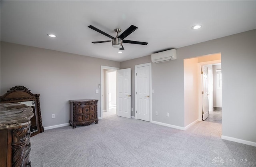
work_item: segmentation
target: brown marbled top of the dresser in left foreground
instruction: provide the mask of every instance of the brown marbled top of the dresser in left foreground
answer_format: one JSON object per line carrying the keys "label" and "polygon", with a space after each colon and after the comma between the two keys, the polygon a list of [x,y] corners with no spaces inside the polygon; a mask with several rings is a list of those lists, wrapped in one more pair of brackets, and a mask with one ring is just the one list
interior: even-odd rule
{"label": "brown marbled top of the dresser in left foreground", "polygon": [[32,107],[20,103],[1,103],[0,129],[27,126],[33,116]]}

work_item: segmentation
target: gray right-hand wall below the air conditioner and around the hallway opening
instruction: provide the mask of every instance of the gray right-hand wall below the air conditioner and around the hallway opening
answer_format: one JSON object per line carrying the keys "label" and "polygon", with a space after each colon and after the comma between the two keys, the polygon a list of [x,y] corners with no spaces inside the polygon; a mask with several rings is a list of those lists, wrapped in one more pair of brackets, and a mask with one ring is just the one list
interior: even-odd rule
{"label": "gray right-hand wall below the air conditioner and around the hallway opening", "polygon": [[[222,135],[256,142],[256,30],[218,38],[177,49],[178,59],[152,63],[153,121],[184,127],[183,60],[221,53]],[[144,60],[145,59],[145,60]],[[150,56],[121,62],[132,68],[132,107],[134,107],[134,65],[148,63]],[[240,67],[239,70],[237,67]],[[170,113],[166,117],[162,113]],[[132,113],[134,115],[134,112]]]}

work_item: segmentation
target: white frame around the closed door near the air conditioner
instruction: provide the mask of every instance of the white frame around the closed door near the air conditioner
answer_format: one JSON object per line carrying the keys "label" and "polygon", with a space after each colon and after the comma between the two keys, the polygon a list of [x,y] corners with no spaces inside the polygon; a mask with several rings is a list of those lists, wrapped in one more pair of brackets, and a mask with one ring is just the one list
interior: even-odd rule
{"label": "white frame around the closed door near the air conditioner", "polygon": [[145,64],[139,64],[139,65],[135,65],[135,73],[134,73],[134,78],[135,78],[135,82],[134,82],[134,86],[135,86],[135,91],[134,91],[134,95],[135,95],[135,106],[134,106],[134,113],[135,113],[135,119],[137,119],[137,113],[136,111],[137,109],[137,68],[139,67],[144,67],[144,66],[149,66],[149,122],[152,122],[152,78],[151,78],[151,63],[145,63]]}

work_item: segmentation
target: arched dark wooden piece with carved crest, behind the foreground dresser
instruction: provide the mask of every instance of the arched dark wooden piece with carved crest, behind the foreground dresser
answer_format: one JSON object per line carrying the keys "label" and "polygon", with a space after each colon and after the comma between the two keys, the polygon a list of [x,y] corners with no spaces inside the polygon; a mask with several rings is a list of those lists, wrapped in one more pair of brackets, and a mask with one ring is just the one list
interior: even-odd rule
{"label": "arched dark wooden piece with carved crest, behind the foreground dresser", "polygon": [[31,136],[44,132],[39,97],[40,94],[33,94],[24,86],[14,86],[1,96],[1,103],[20,102],[33,108],[34,117],[31,119],[30,127]]}

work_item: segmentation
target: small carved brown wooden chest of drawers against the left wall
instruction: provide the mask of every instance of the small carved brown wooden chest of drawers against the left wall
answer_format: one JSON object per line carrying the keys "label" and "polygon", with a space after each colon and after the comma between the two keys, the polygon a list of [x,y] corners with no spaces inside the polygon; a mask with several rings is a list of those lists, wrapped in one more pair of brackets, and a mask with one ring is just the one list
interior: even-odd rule
{"label": "small carved brown wooden chest of drawers against the left wall", "polygon": [[76,125],[90,125],[98,123],[98,100],[82,99],[70,100],[70,126],[76,128]]}

